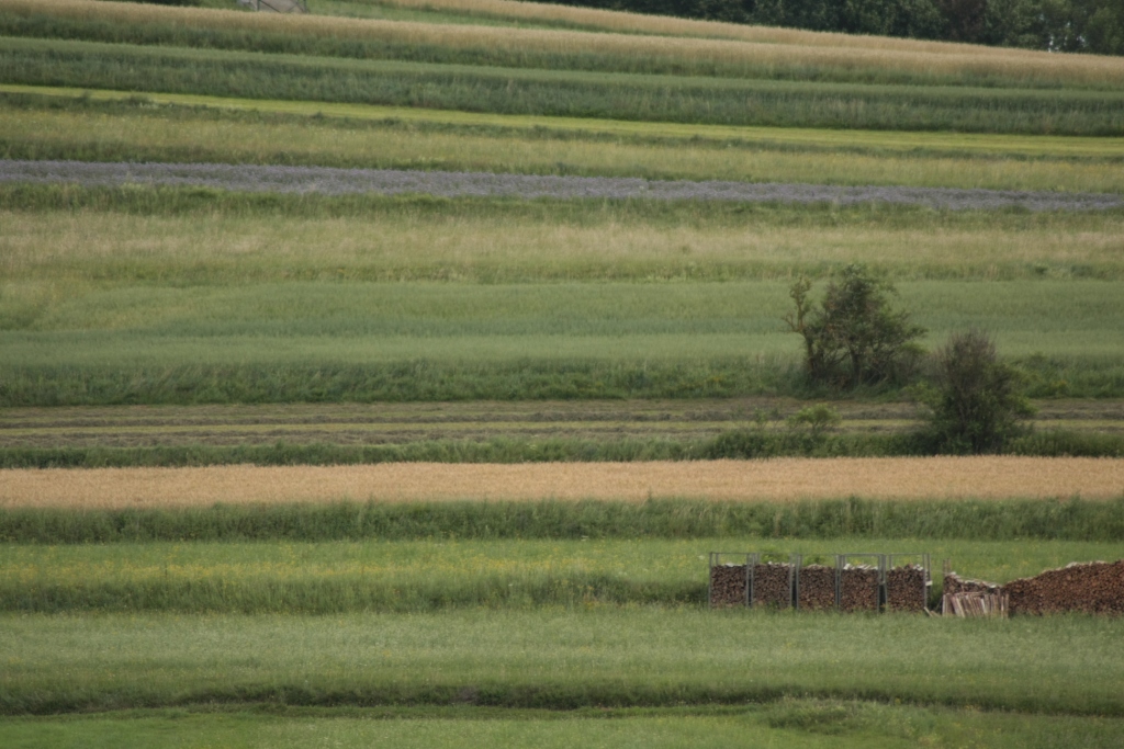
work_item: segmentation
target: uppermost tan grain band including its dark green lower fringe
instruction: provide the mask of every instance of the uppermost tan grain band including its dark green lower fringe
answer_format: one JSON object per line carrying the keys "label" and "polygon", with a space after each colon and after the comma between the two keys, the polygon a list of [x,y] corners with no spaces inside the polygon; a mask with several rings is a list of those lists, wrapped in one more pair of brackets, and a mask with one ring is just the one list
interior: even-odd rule
{"label": "uppermost tan grain band including its dark green lower fringe", "polygon": [[[1051,55],[1023,49],[908,42],[901,45],[901,40],[896,40],[899,44],[895,45],[889,39],[864,39],[855,46],[854,42],[846,43],[844,35],[801,36],[799,33],[790,34],[788,43],[785,43],[778,38],[777,30],[767,33],[773,38],[762,43],[637,35],[635,29],[632,34],[615,34],[608,29],[591,34],[563,29],[237,13],[84,0],[0,0],[0,11],[8,15],[9,33],[53,33],[67,38],[184,46],[198,44],[263,52],[391,56],[419,62],[905,83],[984,82],[1113,88],[1124,82],[1124,63],[1109,56]],[[24,20],[24,25],[13,24],[16,19]],[[29,20],[37,22],[28,24]],[[66,26],[65,21],[70,25]],[[232,30],[235,34],[230,34]]]}

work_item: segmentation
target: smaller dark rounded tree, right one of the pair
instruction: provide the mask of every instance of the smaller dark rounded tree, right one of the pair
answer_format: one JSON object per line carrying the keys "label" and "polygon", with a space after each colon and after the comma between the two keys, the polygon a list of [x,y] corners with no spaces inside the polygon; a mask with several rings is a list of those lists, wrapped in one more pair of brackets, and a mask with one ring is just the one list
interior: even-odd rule
{"label": "smaller dark rounded tree, right one of the pair", "polygon": [[980,330],[959,332],[935,357],[936,390],[923,399],[940,453],[996,453],[1034,414],[1022,394],[1022,375],[999,360],[995,341]]}

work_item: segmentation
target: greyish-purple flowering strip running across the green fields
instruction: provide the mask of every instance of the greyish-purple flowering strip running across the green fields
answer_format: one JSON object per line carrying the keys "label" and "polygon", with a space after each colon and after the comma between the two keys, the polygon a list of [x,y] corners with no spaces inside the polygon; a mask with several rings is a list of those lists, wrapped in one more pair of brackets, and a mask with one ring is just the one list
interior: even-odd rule
{"label": "greyish-purple flowering strip running across the green fields", "polygon": [[0,159],[0,183],[70,183],[84,186],[126,184],[206,186],[245,192],[373,192],[508,198],[601,198],[720,200],[788,203],[899,203],[950,210],[1019,207],[1031,211],[1103,210],[1124,205],[1107,193],[954,190],[948,188],[833,186],[772,182],[689,182],[637,177],[538,176],[488,172],[407,172],[326,166],[248,164],[124,164]]}

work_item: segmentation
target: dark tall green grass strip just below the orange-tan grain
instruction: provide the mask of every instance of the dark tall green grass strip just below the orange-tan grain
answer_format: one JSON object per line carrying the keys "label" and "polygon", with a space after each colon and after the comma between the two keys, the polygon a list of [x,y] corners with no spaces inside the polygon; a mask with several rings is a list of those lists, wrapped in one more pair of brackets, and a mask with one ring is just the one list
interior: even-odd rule
{"label": "dark tall green grass strip just below the orange-tan grain", "polygon": [[1124,541],[1112,501],[334,502],[208,508],[0,509],[6,544],[459,539],[960,539]]}

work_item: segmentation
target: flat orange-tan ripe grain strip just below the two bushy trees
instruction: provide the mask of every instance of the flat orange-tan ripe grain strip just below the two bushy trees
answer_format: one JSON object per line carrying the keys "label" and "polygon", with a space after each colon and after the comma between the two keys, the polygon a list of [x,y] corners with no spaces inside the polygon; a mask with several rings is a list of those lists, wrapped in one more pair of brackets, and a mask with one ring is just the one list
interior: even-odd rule
{"label": "flat orange-tan ripe grain strip just below the two bushy trees", "polygon": [[868,499],[1112,499],[1124,460],[939,457],[715,460],[631,464],[425,464],[13,469],[0,473],[0,506],[71,509],[223,503],[442,500],[723,501]]}

